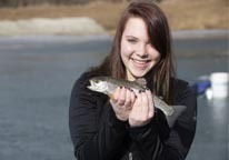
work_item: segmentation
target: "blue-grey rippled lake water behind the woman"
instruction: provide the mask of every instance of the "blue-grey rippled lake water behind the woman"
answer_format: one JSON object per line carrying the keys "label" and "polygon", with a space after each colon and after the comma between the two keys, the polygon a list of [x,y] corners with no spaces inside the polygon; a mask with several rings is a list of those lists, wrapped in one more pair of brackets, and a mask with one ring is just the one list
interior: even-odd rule
{"label": "blue-grey rippled lake water behind the woman", "polygon": [[[178,77],[192,83],[199,76],[228,71],[227,41],[176,41]],[[71,88],[83,71],[101,62],[110,44],[107,36],[0,38],[0,159],[73,160],[68,128]],[[228,103],[203,97],[198,101],[188,160],[226,160]]]}

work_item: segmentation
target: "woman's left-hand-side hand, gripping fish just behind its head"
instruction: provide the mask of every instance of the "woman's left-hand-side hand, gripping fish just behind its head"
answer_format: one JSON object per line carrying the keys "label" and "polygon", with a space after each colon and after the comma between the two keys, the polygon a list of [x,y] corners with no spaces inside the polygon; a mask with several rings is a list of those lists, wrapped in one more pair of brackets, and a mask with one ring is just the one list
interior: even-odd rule
{"label": "woman's left-hand-side hand, gripping fish just behind its head", "polygon": [[118,87],[110,99],[110,103],[117,118],[121,121],[127,121],[129,118],[130,110],[135,103],[136,96],[133,91]]}

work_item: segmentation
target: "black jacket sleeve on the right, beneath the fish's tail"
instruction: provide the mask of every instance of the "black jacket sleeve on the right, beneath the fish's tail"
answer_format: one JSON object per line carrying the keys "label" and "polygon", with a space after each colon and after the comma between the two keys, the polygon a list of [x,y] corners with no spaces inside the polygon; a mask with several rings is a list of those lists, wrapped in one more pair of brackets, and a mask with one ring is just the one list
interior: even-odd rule
{"label": "black jacket sleeve on the right, beneath the fish's tail", "polygon": [[171,129],[161,111],[158,111],[151,123],[129,129],[140,159],[185,160],[187,157],[196,132],[197,98],[188,83],[182,84],[177,92],[176,104],[186,106],[187,109]]}

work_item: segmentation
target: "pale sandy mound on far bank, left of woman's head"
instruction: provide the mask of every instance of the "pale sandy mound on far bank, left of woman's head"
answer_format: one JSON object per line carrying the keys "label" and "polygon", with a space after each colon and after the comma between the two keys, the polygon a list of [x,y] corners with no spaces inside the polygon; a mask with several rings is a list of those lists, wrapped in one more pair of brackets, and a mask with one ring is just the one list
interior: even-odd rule
{"label": "pale sandy mound on far bank, left of woman's head", "polygon": [[0,36],[28,34],[101,34],[104,29],[93,19],[81,18],[33,18],[0,21]]}

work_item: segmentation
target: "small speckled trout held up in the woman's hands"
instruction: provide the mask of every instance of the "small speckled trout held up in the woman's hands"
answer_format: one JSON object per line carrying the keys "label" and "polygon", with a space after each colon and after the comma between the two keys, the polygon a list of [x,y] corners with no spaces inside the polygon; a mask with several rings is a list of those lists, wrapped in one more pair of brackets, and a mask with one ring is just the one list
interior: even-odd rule
{"label": "small speckled trout held up in the woman's hands", "polygon": [[[135,93],[139,91],[145,91],[147,89],[147,81],[143,78],[137,79],[136,81],[128,81],[125,79],[117,79],[111,77],[93,77],[89,79],[90,86],[87,88],[104,93],[112,98],[114,90],[118,87],[126,87],[132,90]],[[169,123],[170,127],[173,126],[177,118],[185,111],[185,106],[169,106],[160,97],[152,94],[153,104],[156,108],[160,109]]]}

